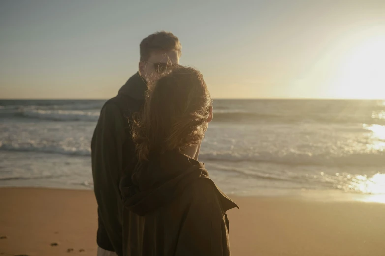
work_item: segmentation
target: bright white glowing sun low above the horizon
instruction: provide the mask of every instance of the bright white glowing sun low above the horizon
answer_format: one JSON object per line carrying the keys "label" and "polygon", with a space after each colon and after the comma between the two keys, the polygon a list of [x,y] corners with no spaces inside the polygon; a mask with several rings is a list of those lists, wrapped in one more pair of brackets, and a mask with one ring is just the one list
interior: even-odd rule
{"label": "bright white glowing sun low above the horizon", "polygon": [[385,98],[385,35],[368,38],[348,52],[333,91],[341,98]]}

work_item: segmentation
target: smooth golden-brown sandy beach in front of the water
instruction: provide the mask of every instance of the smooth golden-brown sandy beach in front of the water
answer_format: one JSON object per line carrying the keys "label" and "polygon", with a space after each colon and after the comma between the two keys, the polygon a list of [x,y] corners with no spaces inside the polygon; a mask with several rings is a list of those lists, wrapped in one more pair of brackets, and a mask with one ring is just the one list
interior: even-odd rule
{"label": "smooth golden-brown sandy beach in front of the water", "polygon": [[[0,188],[0,193],[1,255],[96,255],[92,191]],[[228,212],[232,255],[385,255],[385,204],[233,199],[240,209]]]}

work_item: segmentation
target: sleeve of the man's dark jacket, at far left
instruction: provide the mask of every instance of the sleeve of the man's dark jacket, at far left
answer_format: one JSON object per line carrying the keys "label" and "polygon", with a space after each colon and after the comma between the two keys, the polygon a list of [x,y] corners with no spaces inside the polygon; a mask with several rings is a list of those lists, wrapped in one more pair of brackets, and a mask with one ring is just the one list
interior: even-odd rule
{"label": "sleeve of the man's dark jacket, at far left", "polygon": [[123,121],[118,106],[107,102],[100,112],[91,143],[94,193],[99,205],[97,241],[106,241],[106,245],[109,244],[109,248],[114,248],[119,255],[122,232],[119,181],[122,172],[122,145],[126,139]]}

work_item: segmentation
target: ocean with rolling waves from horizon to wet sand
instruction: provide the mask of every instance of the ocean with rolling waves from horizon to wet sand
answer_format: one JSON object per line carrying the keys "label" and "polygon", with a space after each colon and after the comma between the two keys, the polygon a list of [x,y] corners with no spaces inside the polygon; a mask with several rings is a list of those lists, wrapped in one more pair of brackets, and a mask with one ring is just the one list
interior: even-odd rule
{"label": "ocean with rolling waves from horizon to wet sand", "polygon": [[[0,186],[92,189],[105,100],[0,100]],[[214,100],[199,160],[226,193],[385,194],[385,101]]]}

